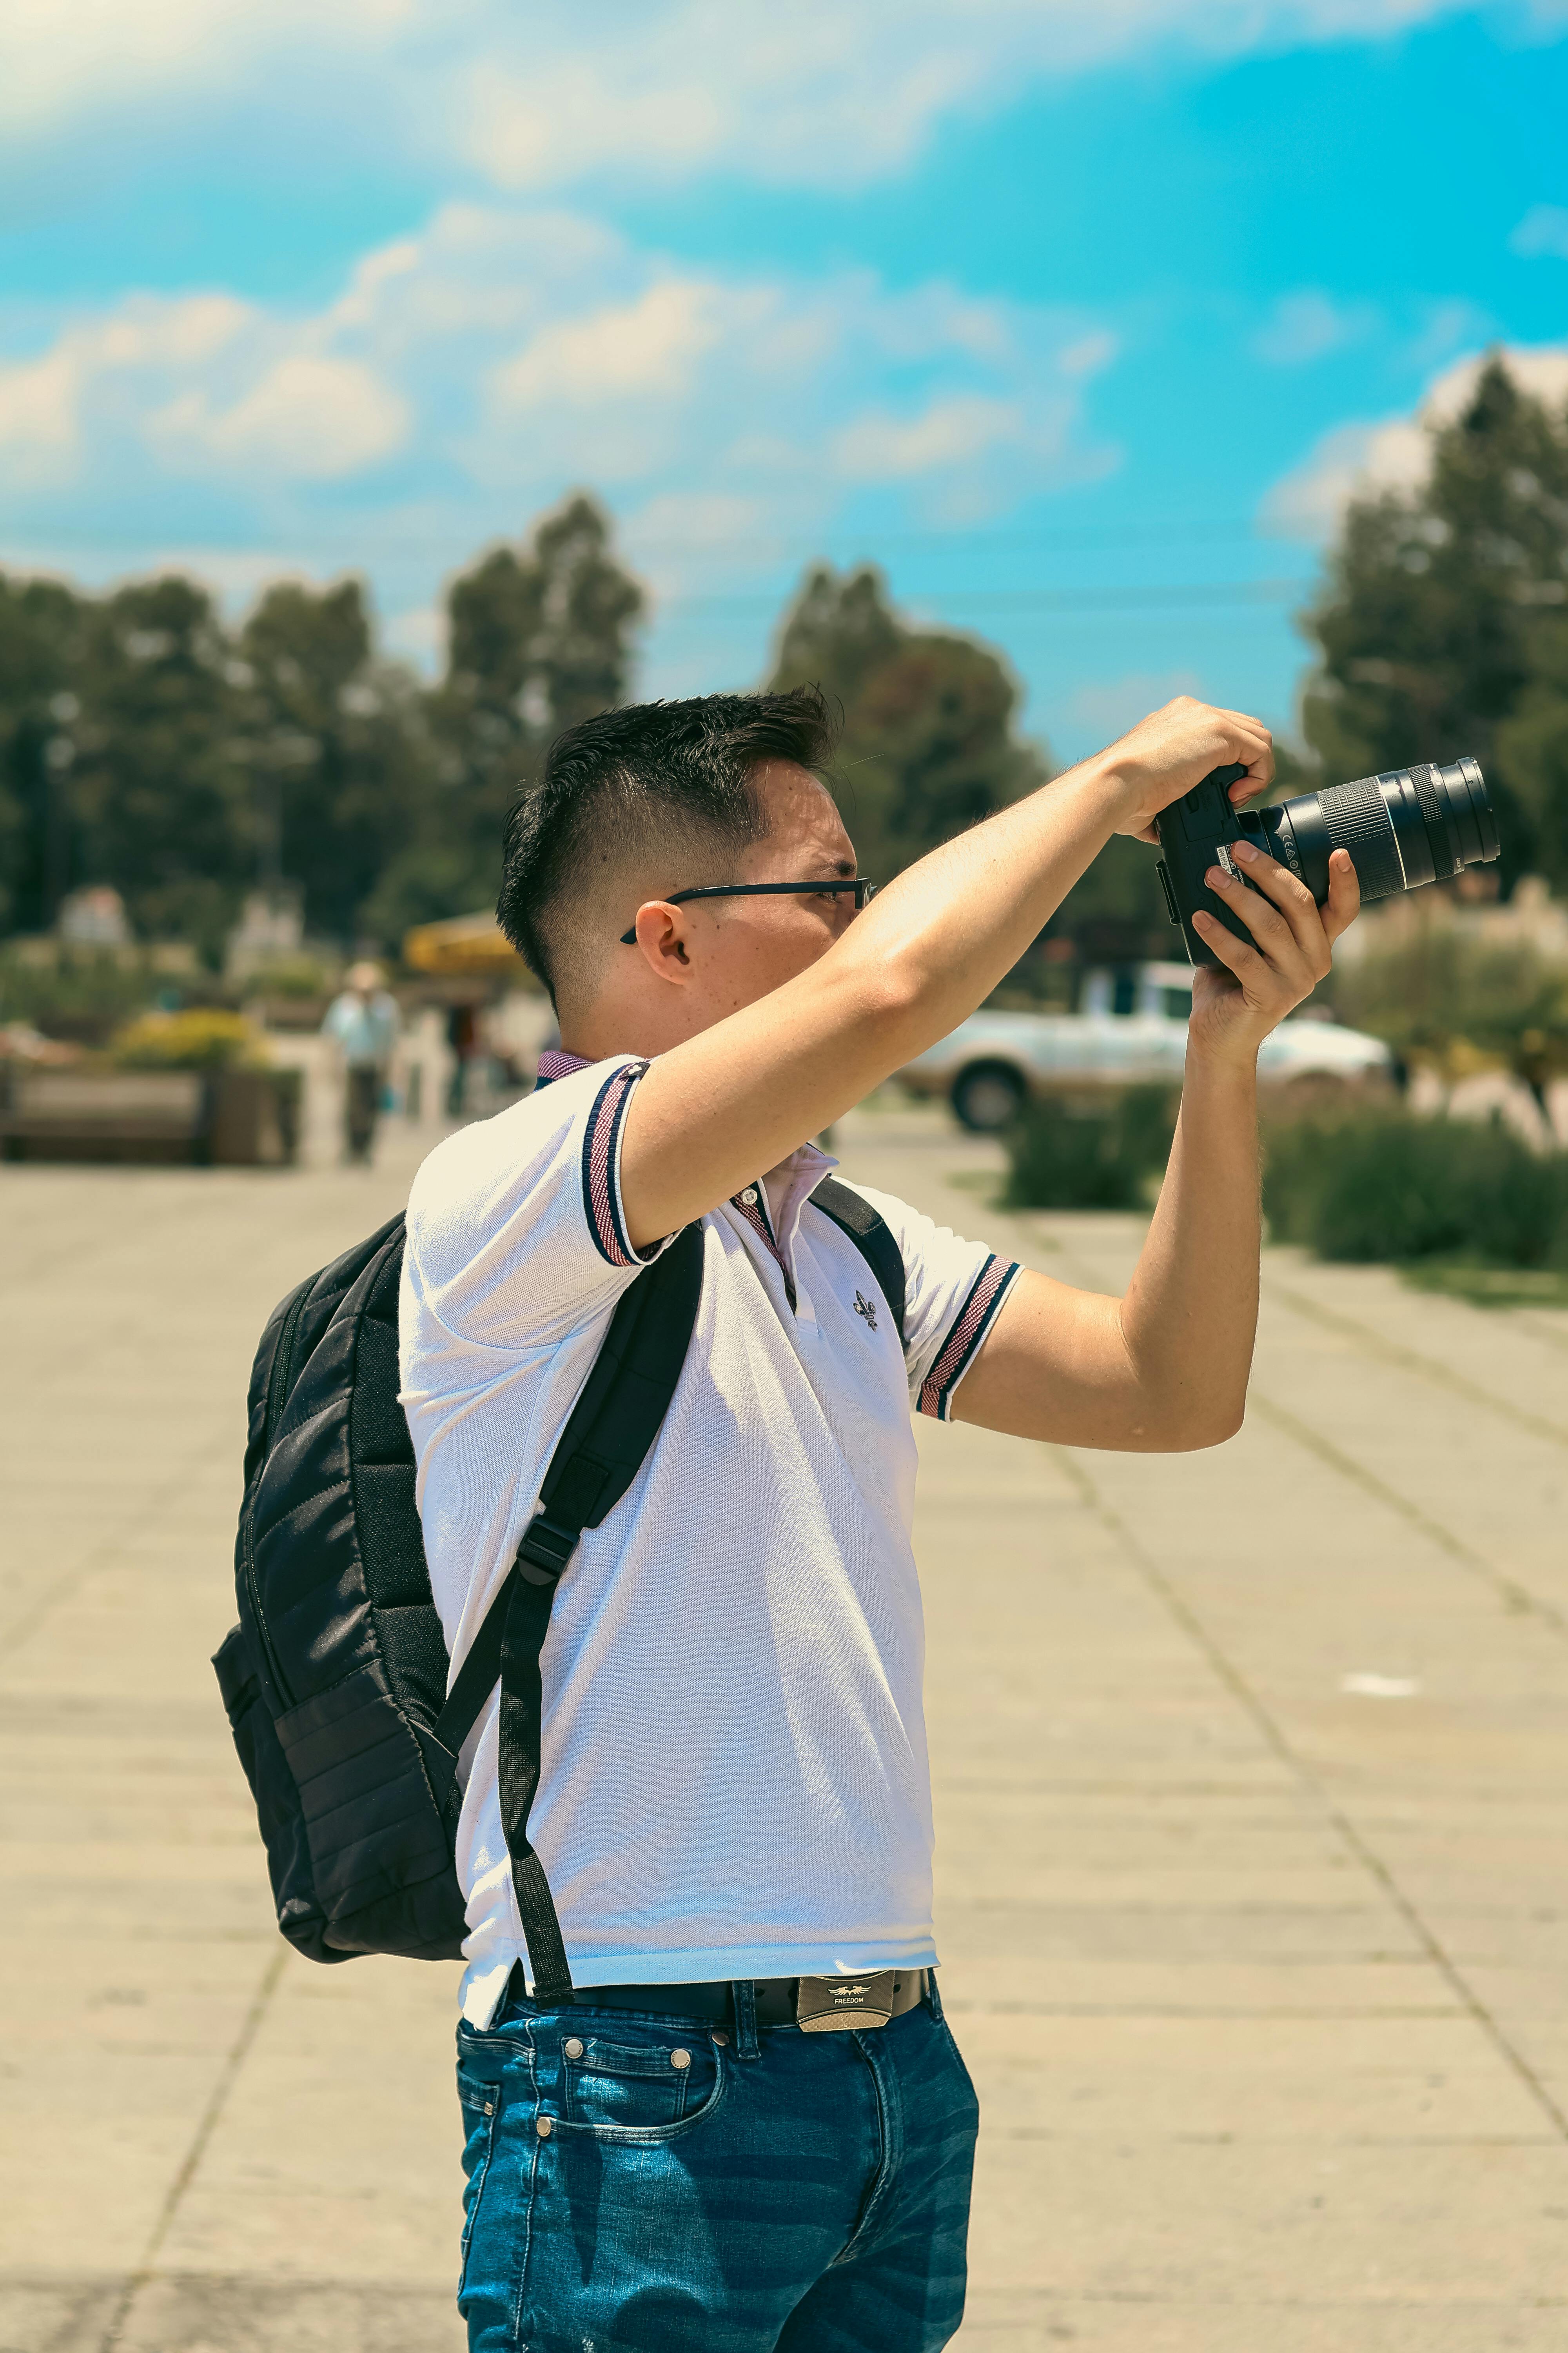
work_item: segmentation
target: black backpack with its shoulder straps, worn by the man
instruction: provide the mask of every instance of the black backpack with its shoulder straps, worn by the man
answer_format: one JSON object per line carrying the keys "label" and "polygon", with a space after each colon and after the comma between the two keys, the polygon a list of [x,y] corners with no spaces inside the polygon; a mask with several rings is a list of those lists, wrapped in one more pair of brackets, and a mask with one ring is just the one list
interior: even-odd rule
{"label": "black backpack with its shoulder straps, worn by the man", "polygon": [[[903,1252],[870,1202],[811,1195],[860,1249],[903,1334]],[[402,1217],[273,1311],[249,1388],[235,1539],[240,1624],[212,1661],[256,1800],[277,1927],[310,1960],[456,1960],[458,1751],[501,1682],[501,1817],[534,1988],[571,1972],[527,1824],[538,1786],[538,1654],[585,1527],[635,1480],[665,1417],[703,1287],[701,1226],[623,1292],[517,1558],[447,1689],[397,1402]]]}

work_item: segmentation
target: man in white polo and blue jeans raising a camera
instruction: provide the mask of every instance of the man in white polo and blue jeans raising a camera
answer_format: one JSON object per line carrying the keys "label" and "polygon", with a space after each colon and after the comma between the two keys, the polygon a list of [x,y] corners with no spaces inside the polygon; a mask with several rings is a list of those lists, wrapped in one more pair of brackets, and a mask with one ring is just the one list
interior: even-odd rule
{"label": "man in white polo and blue jeans raising a camera", "polygon": [[[543,1652],[529,1840],[576,2002],[534,2000],[470,1739],[461,2311],[482,2353],[929,2353],[964,2306],[976,2101],[940,2014],[910,1407],[1067,1445],[1239,1424],[1258,1306],[1260,1040],[1328,969],[1324,913],[1239,845],[1199,918],[1182,1118],[1126,1299],[867,1195],[903,1346],[811,1200],[839,1113],[943,1038],[1112,833],[1267,729],[1190,699],[931,852],[863,913],[820,699],[705,696],[569,729],[510,824],[501,925],[545,979],[541,1087],[409,1202],[402,1395],[461,1664],[616,1301],[701,1221],[703,1292],[639,1478],[588,1529]],[[882,1313],[879,1313],[882,1311]],[[804,2031],[823,1979],[886,2024]],[[827,2000],[837,1995],[827,1993]]]}

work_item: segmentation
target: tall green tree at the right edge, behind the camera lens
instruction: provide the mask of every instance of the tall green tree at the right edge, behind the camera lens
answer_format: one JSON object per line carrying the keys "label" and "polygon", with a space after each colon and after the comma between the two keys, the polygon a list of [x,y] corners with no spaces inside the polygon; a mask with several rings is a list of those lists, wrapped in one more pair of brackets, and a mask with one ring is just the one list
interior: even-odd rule
{"label": "tall green tree at the right edge, behind the camera lens", "polygon": [[1307,614],[1305,722],[1328,776],[1474,753],[1497,807],[1505,887],[1568,882],[1568,407],[1488,360],[1410,492],[1352,504]]}

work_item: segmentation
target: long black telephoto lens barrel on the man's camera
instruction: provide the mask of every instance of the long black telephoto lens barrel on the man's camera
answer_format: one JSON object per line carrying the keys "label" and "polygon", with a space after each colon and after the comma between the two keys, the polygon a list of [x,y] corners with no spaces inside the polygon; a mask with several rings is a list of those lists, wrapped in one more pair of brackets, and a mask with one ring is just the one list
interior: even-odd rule
{"label": "long black telephoto lens barrel on the man's camera", "polygon": [[[1497,821],[1486,779],[1474,760],[1446,767],[1392,767],[1354,784],[1300,793],[1276,809],[1258,809],[1276,856],[1324,904],[1328,854],[1349,849],[1363,899],[1392,899],[1420,882],[1446,882],[1462,866],[1497,856]],[[1251,828],[1248,828],[1251,831]]]}

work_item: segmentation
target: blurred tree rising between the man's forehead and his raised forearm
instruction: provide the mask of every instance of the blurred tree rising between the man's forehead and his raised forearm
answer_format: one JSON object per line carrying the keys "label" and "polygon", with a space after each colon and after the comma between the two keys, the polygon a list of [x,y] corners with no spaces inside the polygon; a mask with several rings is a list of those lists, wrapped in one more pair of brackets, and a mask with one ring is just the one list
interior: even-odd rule
{"label": "blurred tree rising between the man's forehead and his raised forearm", "polygon": [[1051,774],[1013,732],[1018,689],[1001,656],[910,628],[870,567],[806,574],[771,682],[820,685],[844,706],[835,776],[860,868],[877,882]]}

